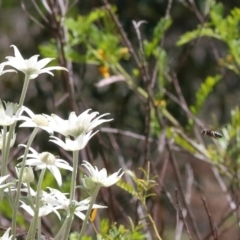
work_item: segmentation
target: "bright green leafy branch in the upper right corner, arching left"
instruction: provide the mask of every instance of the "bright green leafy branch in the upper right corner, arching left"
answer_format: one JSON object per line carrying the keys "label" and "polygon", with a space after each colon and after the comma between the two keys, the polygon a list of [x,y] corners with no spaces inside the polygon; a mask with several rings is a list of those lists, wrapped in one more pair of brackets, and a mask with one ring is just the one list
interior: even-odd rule
{"label": "bright green leafy branch in the upper right corner, arching left", "polygon": [[177,45],[186,44],[199,37],[213,37],[226,43],[229,54],[220,59],[219,64],[240,75],[240,8],[234,8],[227,17],[223,17],[223,5],[212,4],[210,21],[197,29],[183,34]]}

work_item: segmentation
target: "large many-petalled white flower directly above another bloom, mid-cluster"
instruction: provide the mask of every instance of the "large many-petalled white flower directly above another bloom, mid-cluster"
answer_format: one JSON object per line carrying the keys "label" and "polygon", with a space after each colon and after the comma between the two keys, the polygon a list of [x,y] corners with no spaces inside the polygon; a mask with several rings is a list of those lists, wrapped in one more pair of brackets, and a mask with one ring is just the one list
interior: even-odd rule
{"label": "large many-petalled white flower directly above another bloom, mid-cluster", "polygon": [[79,116],[76,116],[75,112],[71,112],[68,120],[63,120],[55,114],[47,117],[54,132],[59,132],[65,137],[72,136],[77,138],[79,135],[88,133],[104,122],[112,121],[112,119],[102,119],[104,116],[109,115],[109,113],[96,117],[99,113],[89,113],[90,111],[91,109],[88,109]]}

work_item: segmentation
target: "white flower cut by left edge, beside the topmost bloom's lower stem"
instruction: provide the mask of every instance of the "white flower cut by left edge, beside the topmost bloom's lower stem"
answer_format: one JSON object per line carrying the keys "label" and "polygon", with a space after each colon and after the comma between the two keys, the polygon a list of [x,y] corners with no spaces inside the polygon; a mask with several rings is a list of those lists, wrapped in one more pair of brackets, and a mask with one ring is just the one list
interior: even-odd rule
{"label": "white flower cut by left edge, beside the topmost bloom's lower stem", "polygon": [[16,111],[16,104],[4,102],[4,105],[5,108],[0,100],[0,126],[10,126],[19,120],[19,116],[22,113],[22,108]]}

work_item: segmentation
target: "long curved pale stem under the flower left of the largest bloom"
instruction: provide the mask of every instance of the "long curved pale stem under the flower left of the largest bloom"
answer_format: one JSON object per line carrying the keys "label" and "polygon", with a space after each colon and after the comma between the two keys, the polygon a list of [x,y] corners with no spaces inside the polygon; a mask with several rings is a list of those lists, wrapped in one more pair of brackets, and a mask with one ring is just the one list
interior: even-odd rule
{"label": "long curved pale stem under the flower left of the largest bloom", "polygon": [[34,128],[32,134],[28,140],[27,146],[24,151],[23,160],[21,163],[21,169],[20,169],[20,173],[19,173],[19,177],[18,177],[16,200],[15,200],[15,205],[13,206],[13,217],[12,217],[12,235],[13,235],[13,237],[15,237],[15,234],[16,234],[17,211],[18,211],[18,207],[19,207],[19,199],[20,199],[20,193],[21,193],[23,171],[24,171],[24,167],[25,167],[25,163],[26,163],[26,159],[27,159],[28,150],[29,150],[37,132],[38,132],[38,127]]}

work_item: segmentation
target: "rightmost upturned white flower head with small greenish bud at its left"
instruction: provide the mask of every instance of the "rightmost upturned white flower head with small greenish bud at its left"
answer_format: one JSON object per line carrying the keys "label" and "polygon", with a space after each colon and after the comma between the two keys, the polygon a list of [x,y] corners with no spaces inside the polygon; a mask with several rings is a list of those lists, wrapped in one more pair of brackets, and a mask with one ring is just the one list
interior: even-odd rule
{"label": "rightmost upturned white flower head with small greenish bud at its left", "polygon": [[108,177],[107,170],[105,168],[98,171],[97,167],[94,168],[89,162],[85,160],[83,162],[84,163],[82,165],[89,172],[89,176],[85,176],[85,178],[83,178],[83,185],[86,188],[92,188],[94,183],[103,187],[110,187],[118,182],[124,174],[124,171],[121,173],[122,169],[120,168],[118,172],[115,172]]}

